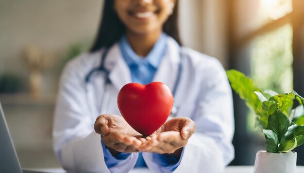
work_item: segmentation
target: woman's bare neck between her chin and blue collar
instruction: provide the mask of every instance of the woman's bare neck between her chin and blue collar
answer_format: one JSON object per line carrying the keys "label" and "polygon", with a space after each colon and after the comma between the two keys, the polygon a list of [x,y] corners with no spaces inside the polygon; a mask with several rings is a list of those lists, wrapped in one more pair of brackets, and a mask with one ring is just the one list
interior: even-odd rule
{"label": "woman's bare neck between her chin and blue collar", "polygon": [[162,30],[148,34],[136,34],[132,31],[127,31],[126,36],[133,51],[138,56],[146,57],[161,34]]}

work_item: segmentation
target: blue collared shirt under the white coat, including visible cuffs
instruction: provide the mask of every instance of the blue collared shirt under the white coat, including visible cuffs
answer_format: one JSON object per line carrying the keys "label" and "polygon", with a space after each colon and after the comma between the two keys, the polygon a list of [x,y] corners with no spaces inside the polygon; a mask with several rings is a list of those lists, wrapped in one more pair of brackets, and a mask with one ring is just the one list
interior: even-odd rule
{"label": "blue collared shirt under the white coat, including visible cuffs", "polygon": [[[157,42],[154,44],[151,52],[147,57],[140,57],[136,55],[133,51],[131,45],[128,43],[128,40],[125,36],[120,39],[119,47],[122,54],[122,57],[126,61],[127,65],[131,71],[132,82],[139,84],[149,84],[152,82],[153,77],[161,63],[162,58],[167,50],[167,35],[162,33]],[[126,159],[130,154],[119,153],[117,156],[112,156],[107,147],[102,144],[104,161],[108,168],[115,166],[119,161]],[[184,148],[182,151],[183,156]],[[180,164],[181,158],[179,160],[174,157],[164,156],[157,153],[152,153],[153,160],[157,164],[166,170],[174,171]],[[146,163],[142,157],[142,153],[139,153],[139,157],[135,164],[135,167],[146,167]]]}

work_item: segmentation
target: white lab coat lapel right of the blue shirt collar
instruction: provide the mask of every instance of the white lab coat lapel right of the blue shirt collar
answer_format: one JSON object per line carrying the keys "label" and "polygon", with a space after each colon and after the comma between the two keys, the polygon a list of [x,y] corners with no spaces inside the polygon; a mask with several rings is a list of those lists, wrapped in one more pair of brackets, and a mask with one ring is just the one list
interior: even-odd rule
{"label": "white lab coat lapel right of the blue shirt collar", "polygon": [[180,63],[180,46],[170,37],[168,37],[167,42],[167,52],[165,53],[165,56],[158,67],[153,81],[166,84],[172,91],[177,78]]}

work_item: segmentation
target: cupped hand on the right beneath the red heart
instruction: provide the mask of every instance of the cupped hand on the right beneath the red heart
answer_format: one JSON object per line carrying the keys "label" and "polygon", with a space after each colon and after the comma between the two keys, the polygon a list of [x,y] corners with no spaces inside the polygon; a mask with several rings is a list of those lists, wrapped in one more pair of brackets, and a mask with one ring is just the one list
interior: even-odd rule
{"label": "cupped hand on the right beneath the red heart", "polygon": [[186,146],[195,131],[194,122],[188,117],[176,117],[167,121],[139,147],[142,152],[166,154],[180,158],[182,147]]}

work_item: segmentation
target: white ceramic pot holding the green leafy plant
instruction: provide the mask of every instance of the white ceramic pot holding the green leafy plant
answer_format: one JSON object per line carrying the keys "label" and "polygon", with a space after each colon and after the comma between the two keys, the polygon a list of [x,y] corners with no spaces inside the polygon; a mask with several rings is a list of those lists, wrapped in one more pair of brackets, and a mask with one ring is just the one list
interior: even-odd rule
{"label": "white ceramic pot holding the green leafy plant", "polygon": [[297,153],[267,153],[258,151],[253,173],[296,173]]}

